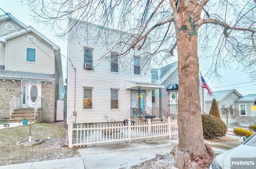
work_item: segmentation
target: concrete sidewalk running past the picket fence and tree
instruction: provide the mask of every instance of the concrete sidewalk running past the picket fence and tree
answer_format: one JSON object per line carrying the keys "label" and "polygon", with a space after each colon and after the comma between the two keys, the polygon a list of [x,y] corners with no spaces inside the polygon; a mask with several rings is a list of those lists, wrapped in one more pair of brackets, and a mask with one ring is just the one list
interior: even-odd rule
{"label": "concrete sidewalk running past the picket fence and tree", "polygon": [[[240,145],[240,137],[227,134],[231,141],[210,142],[214,152],[222,153]],[[166,154],[178,144],[172,140],[154,140],[79,148],[80,157],[0,166],[0,169],[119,169]]]}

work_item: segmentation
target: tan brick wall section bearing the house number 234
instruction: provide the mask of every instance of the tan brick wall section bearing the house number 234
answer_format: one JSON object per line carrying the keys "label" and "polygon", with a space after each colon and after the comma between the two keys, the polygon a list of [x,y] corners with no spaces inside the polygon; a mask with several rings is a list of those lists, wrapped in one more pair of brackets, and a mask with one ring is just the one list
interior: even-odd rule
{"label": "tan brick wall section bearing the house number 234", "polygon": [[0,118],[10,118],[10,102],[14,96],[20,98],[20,83],[0,80]]}

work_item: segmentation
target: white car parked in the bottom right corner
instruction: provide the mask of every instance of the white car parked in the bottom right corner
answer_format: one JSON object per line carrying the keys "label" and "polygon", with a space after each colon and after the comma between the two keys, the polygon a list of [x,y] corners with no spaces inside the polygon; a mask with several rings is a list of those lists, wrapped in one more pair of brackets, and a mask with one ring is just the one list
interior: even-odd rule
{"label": "white car parked in the bottom right corner", "polygon": [[256,133],[239,140],[241,145],[217,155],[210,169],[256,169]]}

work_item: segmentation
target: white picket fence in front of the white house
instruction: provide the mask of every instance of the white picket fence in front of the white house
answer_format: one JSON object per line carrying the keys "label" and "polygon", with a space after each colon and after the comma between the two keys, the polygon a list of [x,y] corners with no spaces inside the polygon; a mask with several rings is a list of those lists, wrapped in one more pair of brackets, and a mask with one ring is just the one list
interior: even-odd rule
{"label": "white picket fence in front of the white house", "polygon": [[168,118],[167,122],[151,122],[131,124],[97,124],[77,125],[68,123],[68,147],[89,147],[116,143],[131,143],[137,141],[163,140],[178,137],[177,120]]}

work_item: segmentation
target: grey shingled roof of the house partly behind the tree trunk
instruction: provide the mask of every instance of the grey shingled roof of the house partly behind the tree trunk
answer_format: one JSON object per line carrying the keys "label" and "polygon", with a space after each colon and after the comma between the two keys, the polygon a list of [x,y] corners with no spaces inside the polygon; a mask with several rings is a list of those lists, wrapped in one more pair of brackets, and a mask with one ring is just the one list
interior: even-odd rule
{"label": "grey shingled roof of the house partly behind the tree trunk", "polygon": [[159,69],[151,70],[151,79],[156,83],[163,83],[167,77],[169,77],[172,72],[178,67],[178,61],[173,62],[169,65],[161,67]]}

